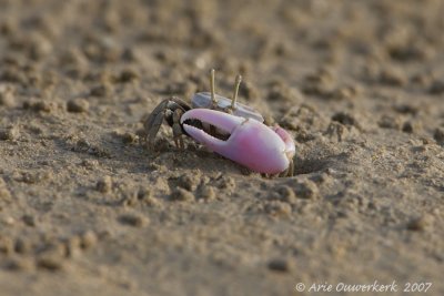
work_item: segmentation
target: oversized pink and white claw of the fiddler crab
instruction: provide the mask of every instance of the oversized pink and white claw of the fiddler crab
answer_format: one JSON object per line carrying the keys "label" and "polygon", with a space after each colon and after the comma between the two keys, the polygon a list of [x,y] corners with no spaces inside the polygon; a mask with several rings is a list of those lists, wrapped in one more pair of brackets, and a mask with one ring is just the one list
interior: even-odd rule
{"label": "oversized pink and white claw of the fiddler crab", "polygon": [[[230,133],[226,141],[219,140],[203,130],[186,124],[199,120]],[[271,127],[255,120],[234,116],[209,109],[193,109],[181,118],[185,132],[212,151],[252,171],[278,174],[285,171],[294,155],[294,142],[282,127]]]}

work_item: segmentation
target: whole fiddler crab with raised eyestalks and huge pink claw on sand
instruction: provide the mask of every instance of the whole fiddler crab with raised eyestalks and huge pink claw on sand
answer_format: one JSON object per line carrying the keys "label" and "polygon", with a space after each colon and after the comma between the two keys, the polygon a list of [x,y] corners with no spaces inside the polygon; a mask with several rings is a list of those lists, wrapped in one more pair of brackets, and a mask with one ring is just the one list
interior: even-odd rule
{"label": "whole fiddler crab with raised eyestalks and huge pink claw on sand", "polygon": [[153,147],[163,120],[173,130],[174,143],[184,149],[185,134],[211,151],[265,175],[293,175],[294,141],[279,125],[263,124],[254,109],[238,103],[241,75],[236,76],[232,100],[215,94],[214,70],[211,92],[195,93],[191,105],[178,98],[163,100],[144,121],[144,140]]}

